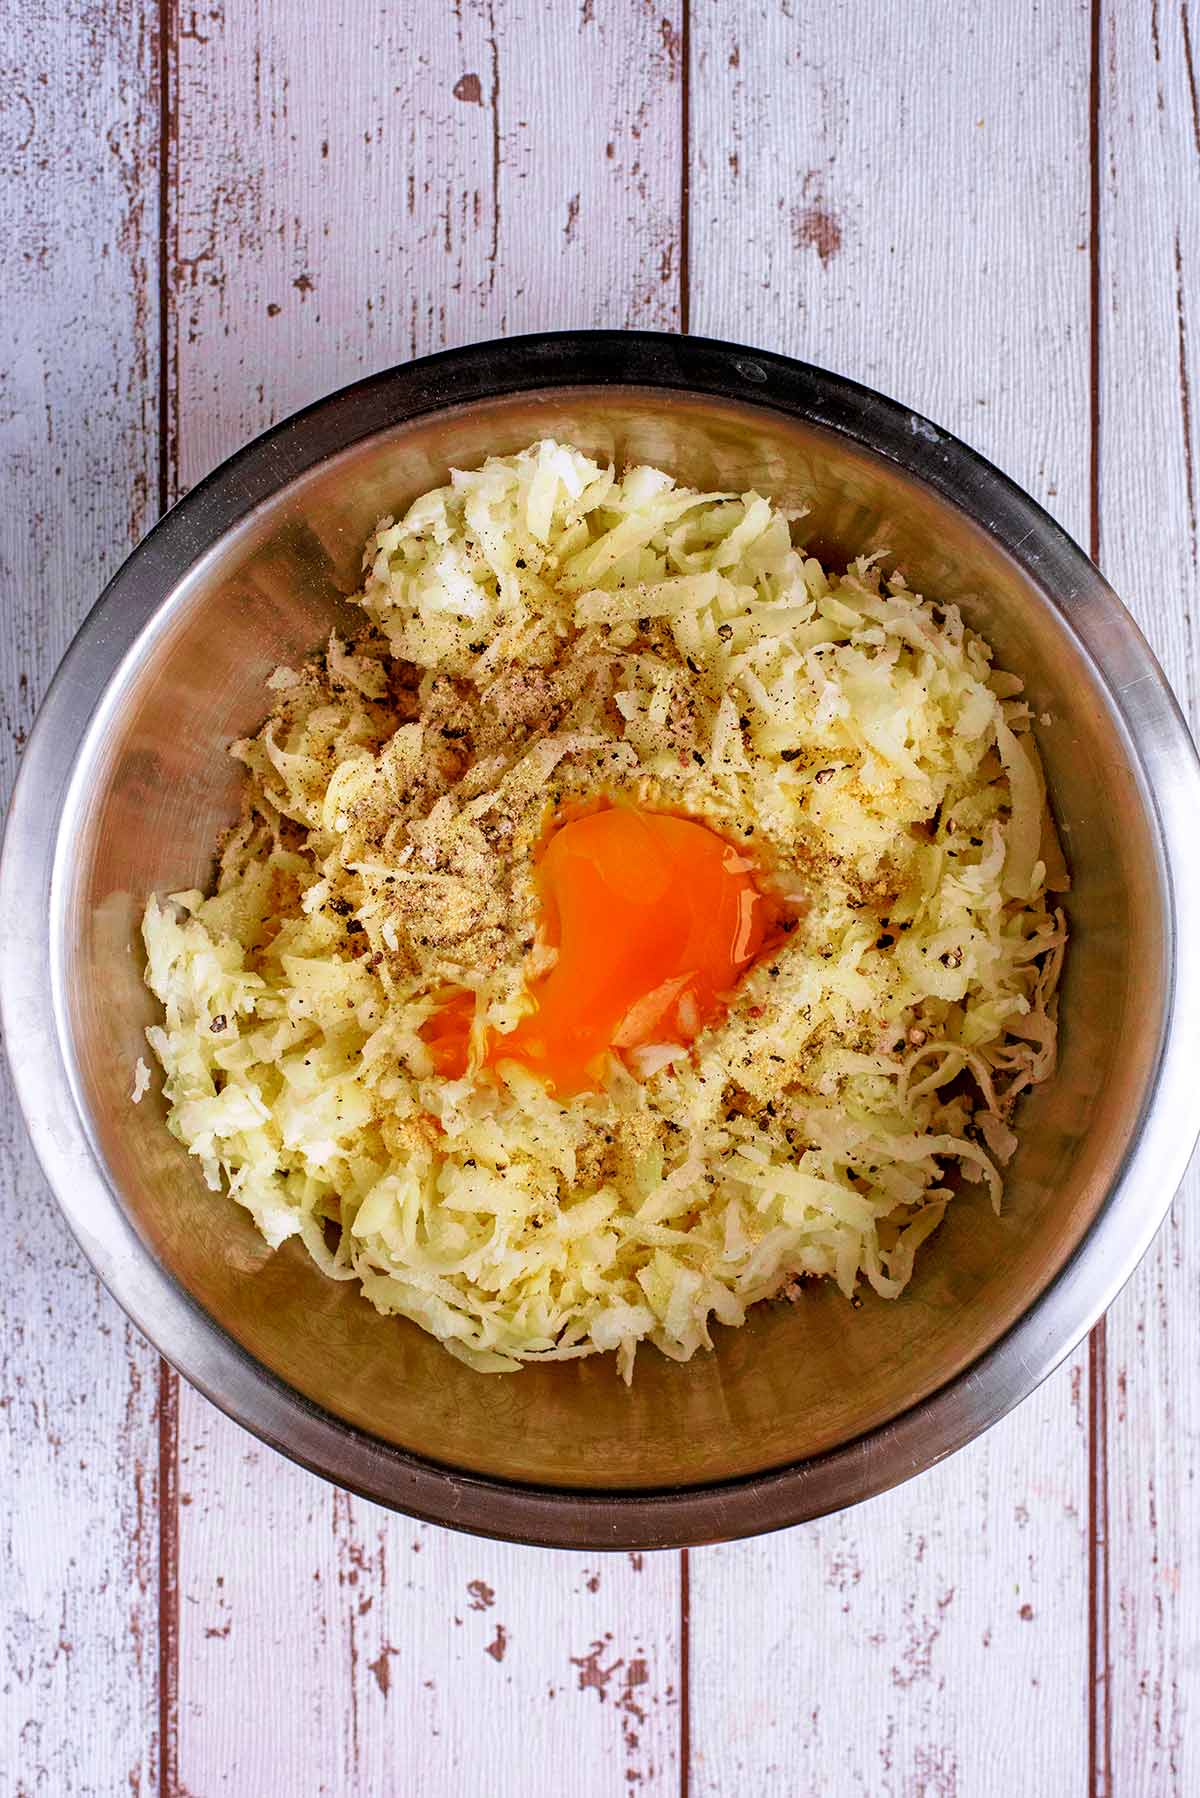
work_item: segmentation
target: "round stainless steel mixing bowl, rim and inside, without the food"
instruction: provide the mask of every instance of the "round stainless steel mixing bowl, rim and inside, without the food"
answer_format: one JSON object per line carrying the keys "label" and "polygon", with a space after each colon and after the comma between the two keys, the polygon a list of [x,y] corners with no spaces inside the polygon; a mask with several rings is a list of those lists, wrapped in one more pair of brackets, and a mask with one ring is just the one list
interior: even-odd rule
{"label": "round stainless steel mixing bowl, rim and inside, without the food", "polygon": [[[885,548],[1025,676],[1074,874],[1056,1079],[1020,1111],[1004,1215],[964,1192],[900,1302],[759,1307],[712,1356],[468,1372],[203,1187],[157,1093],[130,1104],[149,892],[205,883],[228,741],[313,647],[381,512],[452,464],[560,435],[810,507]],[[572,333],[453,351],[243,450],[135,550],[25,752],[0,876],[4,1021],[31,1135],[130,1316],[216,1404],[317,1473],[439,1523],[576,1546],[745,1535],[849,1505],[1000,1417],[1146,1250],[1200,1108],[1200,779],[1121,602],[1025,494],[928,421],[795,361]],[[31,1196],[31,1203],[40,1203]]]}

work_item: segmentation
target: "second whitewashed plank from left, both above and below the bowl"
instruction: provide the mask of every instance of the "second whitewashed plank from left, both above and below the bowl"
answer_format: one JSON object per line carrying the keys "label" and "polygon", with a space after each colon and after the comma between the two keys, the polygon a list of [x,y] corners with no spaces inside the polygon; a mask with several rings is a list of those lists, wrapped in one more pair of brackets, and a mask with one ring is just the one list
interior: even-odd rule
{"label": "second whitewashed plank from left, both above and below the bowl", "polygon": [[[669,324],[671,18],[198,14],[175,77],[180,485],[410,354]],[[581,1798],[678,1784],[676,1557],[585,1564],[417,1528],[182,1390],[178,1559],[184,1791],[498,1794],[527,1791],[534,1758]]]}

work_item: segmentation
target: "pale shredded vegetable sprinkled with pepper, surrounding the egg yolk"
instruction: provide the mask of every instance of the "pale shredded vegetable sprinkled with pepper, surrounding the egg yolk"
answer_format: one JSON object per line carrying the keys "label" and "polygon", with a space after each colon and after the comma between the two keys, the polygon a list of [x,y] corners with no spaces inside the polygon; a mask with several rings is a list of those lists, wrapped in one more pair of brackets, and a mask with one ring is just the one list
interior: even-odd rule
{"label": "pale shredded vegetable sprinkled with pepper, surrounding the egg yolk", "polygon": [[[484,1372],[628,1379],[804,1277],[894,1298],[952,1167],[999,1206],[1052,1072],[1065,877],[1020,683],[801,529],[556,442],[455,471],[367,545],[362,638],[272,676],[216,892],[146,908],[209,1185]],[[597,793],[743,841],[793,928],[691,1050],[560,1102],[480,1068],[552,960],[547,820]],[[448,1081],[421,1030],[464,989]]]}

